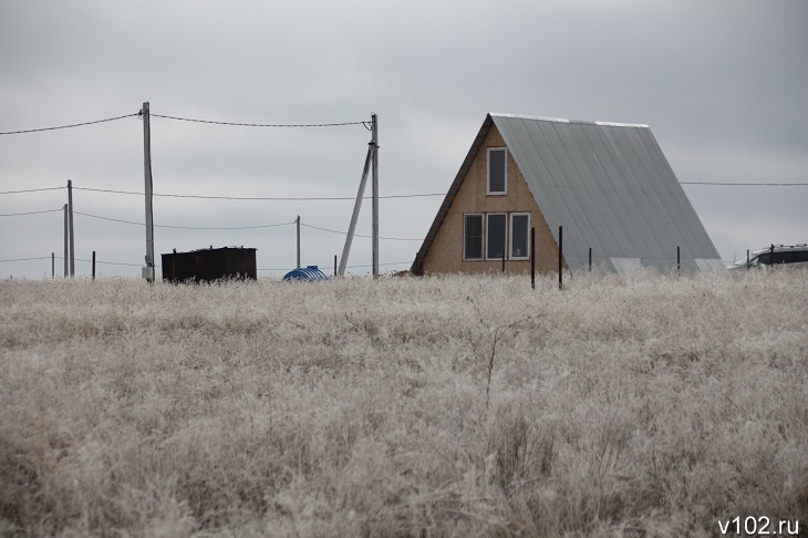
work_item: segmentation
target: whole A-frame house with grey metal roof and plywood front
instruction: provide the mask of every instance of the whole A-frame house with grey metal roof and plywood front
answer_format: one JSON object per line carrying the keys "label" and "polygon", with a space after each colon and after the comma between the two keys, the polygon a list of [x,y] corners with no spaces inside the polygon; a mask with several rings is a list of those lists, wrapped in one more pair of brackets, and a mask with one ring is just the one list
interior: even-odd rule
{"label": "whole A-frame house with grey metal roof and plywood front", "polygon": [[416,255],[415,275],[724,269],[648,125],[488,114]]}

